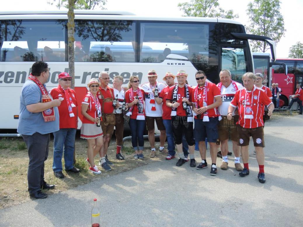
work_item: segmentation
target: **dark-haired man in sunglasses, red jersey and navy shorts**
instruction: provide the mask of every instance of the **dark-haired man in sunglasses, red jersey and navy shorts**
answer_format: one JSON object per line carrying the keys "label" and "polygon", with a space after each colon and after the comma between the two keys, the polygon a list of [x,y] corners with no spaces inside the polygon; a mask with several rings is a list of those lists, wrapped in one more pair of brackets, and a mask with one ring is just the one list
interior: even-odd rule
{"label": "dark-haired man in sunglasses, red jersey and navy shorts", "polygon": [[217,175],[217,145],[218,139],[218,117],[220,114],[217,107],[222,104],[219,88],[206,81],[206,75],[203,71],[196,72],[196,81],[198,86],[192,92],[192,106],[195,112],[195,139],[198,141],[199,152],[202,162],[196,169],[204,169],[207,167],[206,162],[206,145],[205,138],[209,142],[211,155],[211,172],[210,175]]}

